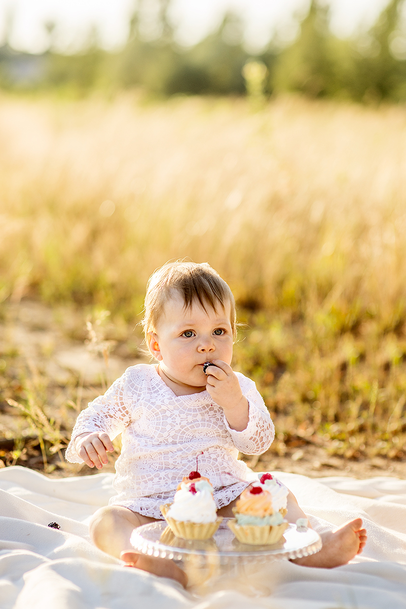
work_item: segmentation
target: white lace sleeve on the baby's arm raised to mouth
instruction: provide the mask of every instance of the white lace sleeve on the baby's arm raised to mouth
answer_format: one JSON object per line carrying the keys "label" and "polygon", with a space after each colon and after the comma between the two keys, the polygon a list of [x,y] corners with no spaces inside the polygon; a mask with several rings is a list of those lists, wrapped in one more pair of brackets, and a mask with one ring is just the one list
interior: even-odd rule
{"label": "white lace sleeve on the baby's arm raised to mouth", "polygon": [[235,431],[231,429],[224,417],[225,426],[230,432],[235,448],[249,455],[258,455],[267,451],[275,437],[274,423],[270,418],[267,407],[255,382],[240,373],[236,373],[238,381],[249,403],[249,421],[246,429]]}

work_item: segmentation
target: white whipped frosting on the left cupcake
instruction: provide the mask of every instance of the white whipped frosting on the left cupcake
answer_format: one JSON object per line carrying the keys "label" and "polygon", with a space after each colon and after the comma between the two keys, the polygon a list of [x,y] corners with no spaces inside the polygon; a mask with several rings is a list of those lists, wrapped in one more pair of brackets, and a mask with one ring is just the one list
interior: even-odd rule
{"label": "white whipped frosting on the left cupcake", "polygon": [[[194,484],[196,493],[190,491]],[[173,518],[191,523],[213,523],[216,518],[216,504],[213,499],[213,487],[210,482],[182,482],[181,488],[176,491],[173,504],[167,512],[167,518]]]}

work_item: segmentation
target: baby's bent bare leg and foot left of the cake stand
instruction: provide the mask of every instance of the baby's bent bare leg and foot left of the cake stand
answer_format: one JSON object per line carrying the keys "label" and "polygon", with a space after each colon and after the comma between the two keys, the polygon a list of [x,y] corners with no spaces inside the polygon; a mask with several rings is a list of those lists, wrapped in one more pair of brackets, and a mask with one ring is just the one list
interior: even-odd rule
{"label": "baby's bent bare leg and foot left of the cake stand", "polygon": [[170,577],[187,585],[185,573],[173,561],[139,554],[131,548],[129,538],[133,529],[142,524],[154,523],[155,518],[142,516],[126,507],[111,505],[102,507],[92,516],[89,525],[91,539],[95,546],[114,556],[121,558],[128,566],[148,571],[160,577]]}

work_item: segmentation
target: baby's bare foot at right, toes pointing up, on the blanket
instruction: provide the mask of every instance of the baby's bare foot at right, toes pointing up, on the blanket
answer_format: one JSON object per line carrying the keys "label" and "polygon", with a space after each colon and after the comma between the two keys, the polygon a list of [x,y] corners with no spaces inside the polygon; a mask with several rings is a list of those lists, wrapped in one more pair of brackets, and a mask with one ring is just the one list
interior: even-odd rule
{"label": "baby's bare foot at right, toes pointing up, on the blanket", "polygon": [[362,520],[356,518],[338,529],[322,533],[323,547],[320,552],[304,558],[295,558],[292,562],[296,565],[325,569],[346,565],[365,547],[366,530],[361,527]]}

